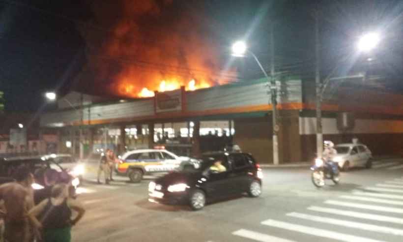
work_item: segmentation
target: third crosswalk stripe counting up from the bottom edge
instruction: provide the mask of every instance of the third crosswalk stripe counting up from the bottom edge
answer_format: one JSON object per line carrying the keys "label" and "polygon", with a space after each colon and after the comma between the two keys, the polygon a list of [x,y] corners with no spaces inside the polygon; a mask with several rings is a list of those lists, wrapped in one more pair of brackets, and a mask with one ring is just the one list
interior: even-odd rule
{"label": "third crosswalk stripe counting up from the bottom edge", "polygon": [[287,213],[287,216],[302,218],[302,219],[321,222],[321,223],[334,224],[334,225],[339,225],[339,226],[344,226],[344,227],[349,227],[349,228],[369,230],[369,231],[385,233],[385,234],[403,235],[403,230],[401,230],[401,229],[377,226],[377,225],[368,224],[368,223],[359,223],[359,222],[353,222],[353,221],[341,220],[341,219],[335,219],[335,218],[319,217],[319,216],[305,214],[305,213],[299,213],[299,212],[290,212],[290,213]]}

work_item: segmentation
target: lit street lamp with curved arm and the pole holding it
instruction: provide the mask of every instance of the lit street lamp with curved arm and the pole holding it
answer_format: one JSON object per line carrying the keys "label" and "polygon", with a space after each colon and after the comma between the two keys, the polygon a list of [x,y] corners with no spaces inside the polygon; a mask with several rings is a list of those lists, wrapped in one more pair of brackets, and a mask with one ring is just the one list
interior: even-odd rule
{"label": "lit street lamp with curved arm and the pole holding it", "polygon": [[[263,72],[264,76],[267,79],[267,82],[270,84],[270,92],[271,92],[271,104],[272,104],[272,118],[273,118],[273,164],[278,165],[279,164],[279,146],[278,146],[278,138],[277,138],[277,132],[279,131],[279,126],[277,125],[277,87],[276,87],[276,81],[274,79],[274,65],[272,63],[272,71],[271,71],[271,77],[269,77],[264,70],[263,66],[260,64],[259,59],[256,57],[256,55],[248,50],[245,42],[243,41],[237,41],[232,45],[232,56],[235,57],[245,57],[246,54],[250,54],[253,56],[253,58],[256,60],[258,63],[261,71]],[[273,54],[273,53],[272,53]]]}

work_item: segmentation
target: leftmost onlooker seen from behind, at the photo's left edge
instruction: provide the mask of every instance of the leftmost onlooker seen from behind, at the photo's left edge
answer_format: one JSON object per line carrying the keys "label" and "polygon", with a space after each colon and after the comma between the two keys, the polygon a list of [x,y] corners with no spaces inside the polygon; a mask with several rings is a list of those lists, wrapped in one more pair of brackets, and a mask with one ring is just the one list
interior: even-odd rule
{"label": "leftmost onlooker seen from behind, at the photo's left edge", "polygon": [[26,166],[14,172],[14,182],[0,186],[0,200],[3,201],[0,216],[4,220],[6,242],[32,242],[38,234],[29,223],[27,212],[33,207],[33,175]]}

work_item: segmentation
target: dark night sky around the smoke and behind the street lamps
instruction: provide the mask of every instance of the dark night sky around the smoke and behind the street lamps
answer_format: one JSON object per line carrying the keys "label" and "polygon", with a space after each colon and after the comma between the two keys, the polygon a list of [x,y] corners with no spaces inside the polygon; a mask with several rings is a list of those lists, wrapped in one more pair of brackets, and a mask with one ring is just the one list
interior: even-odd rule
{"label": "dark night sky around the smoke and behind the street lamps", "polygon": [[[118,1],[107,1],[113,12],[102,19],[99,9],[94,10],[94,0],[0,0],[0,90],[5,92],[7,111],[33,111],[45,105],[43,93],[57,90],[63,94],[70,89],[88,93],[102,93],[91,89],[99,77],[87,72],[85,79],[75,83],[76,77],[86,71],[88,63],[83,27],[97,32],[101,43],[110,35],[110,23],[118,21],[123,11]],[[121,1],[119,1],[121,2]],[[231,60],[229,46],[236,39],[248,41],[251,50],[265,67],[269,66],[270,24],[275,34],[276,69],[297,74],[303,80],[312,79],[314,55],[314,13],[319,6],[321,34],[322,75],[345,67],[340,74],[352,70],[371,69],[386,76],[384,85],[402,91],[403,1],[313,1],[313,0],[150,0],[160,6],[161,16],[179,16],[184,12],[201,16],[203,33],[214,38],[219,59],[225,65]],[[144,5],[144,4],[143,4]],[[140,6],[139,6],[140,7]],[[101,11],[102,12],[102,11]],[[156,14],[156,13],[150,13]],[[101,17],[100,17],[101,16]],[[161,17],[162,18],[162,17]],[[162,24],[150,23],[147,18],[136,18],[139,26],[150,28]],[[165,20],[166,21],[166,20]],[[349,63],[360,33],[379,30],[381,46],[366,63],[366,56]],[[179,30],[180,31],[180,30]],[[158,41],[153,40],[153,41]],[[347,61],[346,61],[347,59]],[[98,60],[99,61],[99,60]],[[111,61],[111,60],[109,60]],[[119,65],[121,60],[113,60]],[[346,64],[347,62],[347,64]],[[106,82],[116,71],[115,66],[104,68]],[[261,77],[253,60],[233,60],[239,71],[236,81]],[[118,69],[118,68],[117,68]],[[105,80],[104,80],[105,81]]]}

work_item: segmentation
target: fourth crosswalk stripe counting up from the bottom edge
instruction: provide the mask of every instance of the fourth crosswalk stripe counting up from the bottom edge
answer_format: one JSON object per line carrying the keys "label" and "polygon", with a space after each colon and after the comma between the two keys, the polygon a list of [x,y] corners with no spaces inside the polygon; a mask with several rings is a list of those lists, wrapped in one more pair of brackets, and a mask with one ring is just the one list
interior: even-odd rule
{"label": "fourth crosswalk stripe counting up from the bottom edge", "polygon": [[348,210],[323,208],[323,207],[317,207],[317,206],[311,206],[308,208],[308,210],[316,211],[316,212],[327,212],[327,213],[332,213],[332,214],[336,214],[336,215],[363,218],[363,219],[369,219],[369,220],[374,220],[374,221],[403,224],[403,218],[377,215],[377,214],[372,214],[372,213],[354,212],[354,211],[348,211]]}

